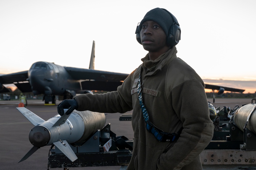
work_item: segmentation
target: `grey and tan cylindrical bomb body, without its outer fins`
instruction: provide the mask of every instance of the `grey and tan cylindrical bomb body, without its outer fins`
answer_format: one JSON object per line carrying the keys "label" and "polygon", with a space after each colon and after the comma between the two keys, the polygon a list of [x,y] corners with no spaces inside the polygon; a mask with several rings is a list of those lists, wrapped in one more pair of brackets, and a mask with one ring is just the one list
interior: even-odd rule
{"label": "grey and tan cylindrical bomb body, without its outer fins", "polygon": [[53,126],[59,118],[60,115],[56,115],[31,129],[29,132],[31,144],[42,147],[52,145],[59,140],[66,140],[68,143],[83,142],[92,133],[102,129],[106,122],[104,113],[75,110],[66,123]]}

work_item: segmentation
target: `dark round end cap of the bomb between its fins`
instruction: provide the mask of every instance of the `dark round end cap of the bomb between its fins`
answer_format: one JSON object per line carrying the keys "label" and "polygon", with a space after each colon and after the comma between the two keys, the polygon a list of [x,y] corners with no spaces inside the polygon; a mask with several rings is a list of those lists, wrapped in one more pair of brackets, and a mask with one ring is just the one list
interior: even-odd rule
{"label": "dark round end cap of the bomb between its fins", "polygon": [[29,141],[36,147],[42,147],[48,144],[50,132],[46,127],[35,126],[28,135]]}

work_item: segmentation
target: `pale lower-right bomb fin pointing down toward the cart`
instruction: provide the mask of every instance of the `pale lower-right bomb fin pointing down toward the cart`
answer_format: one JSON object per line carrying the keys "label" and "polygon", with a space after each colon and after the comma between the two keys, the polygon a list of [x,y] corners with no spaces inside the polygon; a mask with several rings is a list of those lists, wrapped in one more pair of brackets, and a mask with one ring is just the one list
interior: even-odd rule
{"label": "pale lower-right bomb fin pointing down toward the cart", "polygon": [[53,143],[59,150],[66,155],[70,161],[74,162],[78,159],[77,155],[74,153],[74,151],[70,148],[68,142],[66,140],[60,140]]}

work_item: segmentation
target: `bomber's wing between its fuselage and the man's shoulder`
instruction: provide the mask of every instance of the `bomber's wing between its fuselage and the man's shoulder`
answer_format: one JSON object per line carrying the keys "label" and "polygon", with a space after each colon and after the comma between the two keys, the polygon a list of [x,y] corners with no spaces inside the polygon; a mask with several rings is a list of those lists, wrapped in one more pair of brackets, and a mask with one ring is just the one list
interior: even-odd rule
{"label": "bomber's wing between its fuselage and the man's shoulder", "polygon": [[82,80],[83,90],[114,91],[129,74],[108,71],[65,67],[66,71],[75,80]]}

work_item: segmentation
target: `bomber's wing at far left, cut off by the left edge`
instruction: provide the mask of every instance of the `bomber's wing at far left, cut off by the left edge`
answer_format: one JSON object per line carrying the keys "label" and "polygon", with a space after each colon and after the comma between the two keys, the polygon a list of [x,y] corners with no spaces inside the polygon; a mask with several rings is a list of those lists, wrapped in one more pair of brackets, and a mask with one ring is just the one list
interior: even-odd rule
{"label": "bomber's wing at far left, cut off by the left edge", "polygon": [[[0,75],[0,86],[3,87],[3,84],[15,84],[15,86],[17,86],[17,88],[23,93],[32,92],[31,86],[29,82],[27,82],[27,78],[28,78],[28,71],[22,71],[22,72],[11,73],[11,74],[3,74],[3,75]],[[1,87],[0,87],[0,93],[5,93],[6,88],[3,87],[1,90]]]}

